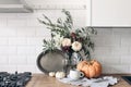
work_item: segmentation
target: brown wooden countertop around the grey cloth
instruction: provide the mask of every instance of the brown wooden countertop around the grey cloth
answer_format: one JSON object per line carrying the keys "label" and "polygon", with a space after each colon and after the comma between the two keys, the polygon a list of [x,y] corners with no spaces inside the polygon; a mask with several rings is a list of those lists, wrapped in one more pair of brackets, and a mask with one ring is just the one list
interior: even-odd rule
{"label": "brown wooden countertop around the grey cloth", "polygon": [[[115,76],[118,77],[120,80],[118,84],[109,87],[131,87],[124,79],[121,78],[121,74],[111,74],[106,76]],[[49,77],[45,74],[33,74],[31,82],[26,85],[26,87],[76,87],[68,84],[63,84],[58,82],[55,77]],[[81,87],[81,86],[78,86]]]}

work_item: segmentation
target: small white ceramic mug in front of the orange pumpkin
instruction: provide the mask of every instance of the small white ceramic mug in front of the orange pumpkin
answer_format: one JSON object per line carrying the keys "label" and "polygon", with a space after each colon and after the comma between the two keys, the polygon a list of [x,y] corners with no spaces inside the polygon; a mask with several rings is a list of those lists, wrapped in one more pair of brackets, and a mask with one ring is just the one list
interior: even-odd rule
{"label": "small white ceramic mug in front of the orange pumpkin", "polygon": [[70,73],[69,73],[69,77],[71,79],[79,79],[80,77],[83,77],[84,76],[84,73],[83,72],[80,72],[78,70],[70,70]]}

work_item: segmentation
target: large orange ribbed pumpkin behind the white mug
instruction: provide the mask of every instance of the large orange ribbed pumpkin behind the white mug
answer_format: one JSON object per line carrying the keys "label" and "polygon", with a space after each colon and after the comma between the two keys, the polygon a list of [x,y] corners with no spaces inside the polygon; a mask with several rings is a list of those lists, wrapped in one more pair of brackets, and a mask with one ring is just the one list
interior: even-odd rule
{"label": "large orange ribbed pumpkin behind the white mug", "polygon": [[86,77],[98,77],[102,74],[102,65],[96,60],[81,61],[76,69],[85,74]]}

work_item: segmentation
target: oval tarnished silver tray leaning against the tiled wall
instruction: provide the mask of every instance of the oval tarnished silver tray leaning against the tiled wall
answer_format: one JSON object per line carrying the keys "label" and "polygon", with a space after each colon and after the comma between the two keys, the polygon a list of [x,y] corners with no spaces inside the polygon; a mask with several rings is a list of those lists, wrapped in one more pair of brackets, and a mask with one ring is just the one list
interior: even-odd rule
{"label": "oval tarnished silver tray leaning against the tiled wall", "polygon": [[37,66],[44,73],[62,71],[66,66],[66,55],[60,50],[41,52],[37,58]]}

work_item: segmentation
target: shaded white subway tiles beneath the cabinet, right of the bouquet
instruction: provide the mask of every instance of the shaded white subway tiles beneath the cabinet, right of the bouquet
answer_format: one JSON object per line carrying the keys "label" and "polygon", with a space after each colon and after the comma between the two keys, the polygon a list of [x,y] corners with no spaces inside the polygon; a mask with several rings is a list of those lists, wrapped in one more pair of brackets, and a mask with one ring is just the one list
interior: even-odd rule
{"label": "shaded white subway tiles beneath the cabinet, right of the bouquet", "polygon": [[96,28],[94,58],[99,60],[104,73],[131,73],[131,29]]}

